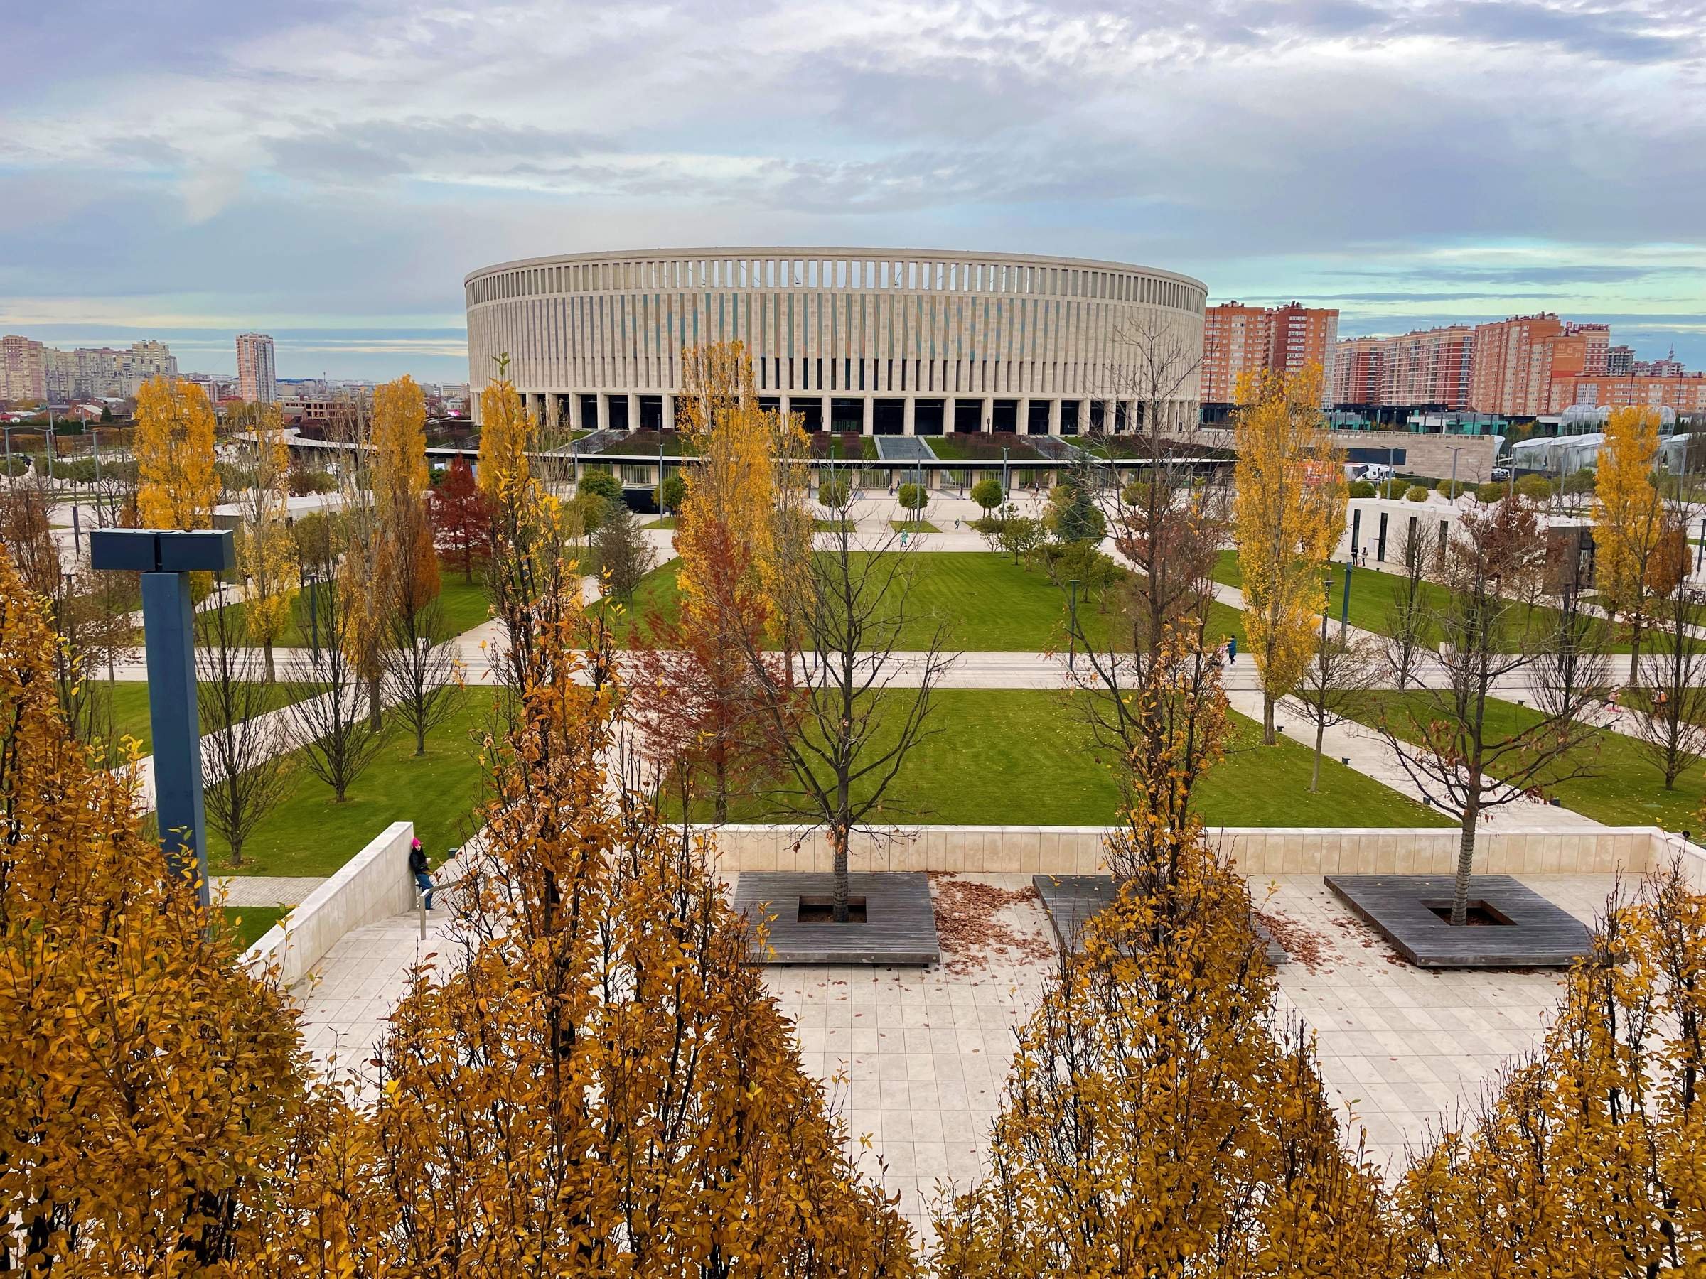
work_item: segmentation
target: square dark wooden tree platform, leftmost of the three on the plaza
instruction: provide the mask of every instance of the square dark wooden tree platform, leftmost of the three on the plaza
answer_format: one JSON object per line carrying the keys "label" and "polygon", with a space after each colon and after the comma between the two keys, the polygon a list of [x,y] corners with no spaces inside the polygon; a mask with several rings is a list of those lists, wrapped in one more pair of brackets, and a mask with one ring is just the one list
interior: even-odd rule
{"label": "square dark wooden tree platform, leftmost of the three on the plaza", "polygon": [[940,958],[930,878],[921,871],[848,875],[856,923],[834,923],[833,899],[829,871],[740,871],[735,912],[769,928],[769,945],[754,945],[752,962],[928,965]]}

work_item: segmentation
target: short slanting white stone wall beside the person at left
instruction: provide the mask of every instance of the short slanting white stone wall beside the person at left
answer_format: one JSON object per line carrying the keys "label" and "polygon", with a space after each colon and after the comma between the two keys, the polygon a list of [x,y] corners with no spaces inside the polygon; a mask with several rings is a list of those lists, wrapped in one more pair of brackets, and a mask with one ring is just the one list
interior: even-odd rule
{"label": "short slanting white stone wall beside the person at left", "polygon": [[297,909],[273,924],[244,953],[256,970],[276,965],[278,981],[290,989],[324,958],[345,933],[401,914],[415,906],[415,877],[409,875],[413,822],[392,822],[367,848],[307,895]]}

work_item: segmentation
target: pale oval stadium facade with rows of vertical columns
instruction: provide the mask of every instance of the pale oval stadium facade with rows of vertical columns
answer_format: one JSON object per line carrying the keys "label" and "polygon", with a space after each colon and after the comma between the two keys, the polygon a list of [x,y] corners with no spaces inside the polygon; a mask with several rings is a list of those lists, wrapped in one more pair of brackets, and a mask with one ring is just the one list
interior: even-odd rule
{"label": "pale oval stadium facade with rows of vertical columns", "polygon": [[464,286],[469,385],[507,355],[529,411],[575,430],[672,428],[681,350],[735,339],[761,402],[807,430],[1126,431],[1145,399],[1196,421],[1206,288],[1148,266],[655,249],[500,263]]}

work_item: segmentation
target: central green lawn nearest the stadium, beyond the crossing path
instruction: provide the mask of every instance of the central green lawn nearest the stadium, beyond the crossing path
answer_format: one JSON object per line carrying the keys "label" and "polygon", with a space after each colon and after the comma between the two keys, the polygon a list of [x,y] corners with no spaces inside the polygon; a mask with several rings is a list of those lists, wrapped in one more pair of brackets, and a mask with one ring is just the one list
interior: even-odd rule
{"label": "central green lawn nearest the stadium, beyond the crossing path", "polygon": [[[901,636],[901,648],[930,643],[937,619],[949,621],[949,648],[966,651],[1046,651],[1066,646],[1066,593],[1039,568],[1024,568],[988,551],[920,551],[911,559],[918,573],[913,587],[913,619]],[[657,614],[676,617],[676,573],[679,559],[652,570],[626,609],[621,638],[643,619]],[[1080,600],[1085,633],[1097,645],[1107,643],[1109,616],[1097,604]],[[1245,643],[1237,609],[1210,607],[1210,640],[1235,634]]]}

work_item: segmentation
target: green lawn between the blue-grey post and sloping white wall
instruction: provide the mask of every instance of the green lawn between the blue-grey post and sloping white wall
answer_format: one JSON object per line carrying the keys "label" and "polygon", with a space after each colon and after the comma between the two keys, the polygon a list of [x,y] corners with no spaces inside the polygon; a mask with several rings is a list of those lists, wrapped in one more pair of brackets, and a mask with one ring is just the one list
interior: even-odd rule
{"label": "green lawn between the blue-grey post and sloping white wall", "polygon": [[433,863],[467,832],[467,817],[485,798],[473,730],[486,723],[493,692],[461,689],[456,713],[415,755],[415,735],[391,713],[386,744],[357,778],[345,803],[307,769],[297,769],[283,803],[256,830],[230,866],[230,849],[208,836],[210,865],[218,875],[331,875],[391,822],[415,822]]}

